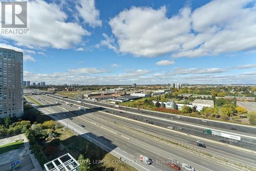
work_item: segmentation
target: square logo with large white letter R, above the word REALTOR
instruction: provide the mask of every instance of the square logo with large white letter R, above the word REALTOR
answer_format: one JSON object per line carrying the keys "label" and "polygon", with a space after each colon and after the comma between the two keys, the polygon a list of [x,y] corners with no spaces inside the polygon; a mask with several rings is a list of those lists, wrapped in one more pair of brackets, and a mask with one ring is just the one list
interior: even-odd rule
{"label": "square logo with large white letter R, above the word REALTOR", "polygon": [[2,28],[27,28],[27,2],[2,2]]}

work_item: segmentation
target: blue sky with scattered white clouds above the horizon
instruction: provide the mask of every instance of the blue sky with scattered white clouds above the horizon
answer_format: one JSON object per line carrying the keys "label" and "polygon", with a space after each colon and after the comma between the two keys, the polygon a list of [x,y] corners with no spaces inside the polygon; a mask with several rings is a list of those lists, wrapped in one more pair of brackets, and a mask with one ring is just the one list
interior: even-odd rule
{"label": "blue sky with scattered white clouds above the horizon", "polygon": [[46,84],[256,83],[256,2],[28,1],[24,80]]}

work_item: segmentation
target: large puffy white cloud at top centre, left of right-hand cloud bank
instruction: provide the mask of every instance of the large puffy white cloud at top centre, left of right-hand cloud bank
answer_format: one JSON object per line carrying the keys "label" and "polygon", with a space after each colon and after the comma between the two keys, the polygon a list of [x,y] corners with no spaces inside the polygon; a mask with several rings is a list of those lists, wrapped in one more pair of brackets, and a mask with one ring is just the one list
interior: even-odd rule
{"label": "large puffy white cloud at top centre, left of right-hand cloud bank", "polygon": [[166,17],[166,8],[132,7],[109,22],[118,39],[119,51],[135,56],[157,56],[180,49],[190,29],[190,9]]}

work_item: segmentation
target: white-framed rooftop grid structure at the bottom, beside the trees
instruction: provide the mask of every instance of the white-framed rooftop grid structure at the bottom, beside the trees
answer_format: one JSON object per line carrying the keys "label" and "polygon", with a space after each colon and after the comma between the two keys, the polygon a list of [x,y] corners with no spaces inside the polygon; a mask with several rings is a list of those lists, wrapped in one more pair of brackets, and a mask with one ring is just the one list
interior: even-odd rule
{"label": "white-framed rooftop grid structure at the bottom, beside the trees", "polygon": [[80,164],[67,153],[44,164],[44,166],[47,171],[78,171]]}

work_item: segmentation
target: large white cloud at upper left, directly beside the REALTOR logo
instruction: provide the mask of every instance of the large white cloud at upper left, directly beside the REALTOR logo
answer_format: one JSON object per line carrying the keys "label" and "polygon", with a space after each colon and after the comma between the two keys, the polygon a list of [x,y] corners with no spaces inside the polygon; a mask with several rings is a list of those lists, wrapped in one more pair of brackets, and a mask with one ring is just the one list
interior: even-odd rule
{"label": "large white cloud at upper left, directly beside the REALTOR logo", "polygon": [[90,35],[77,23],[66,22],[68,15],[54,3],[28,1],[28,9],[30,33],[2,35],[4,38],[14,40],[18,46],[68,49],[78,44],[82,36]]}

